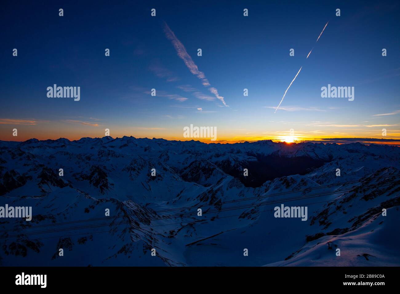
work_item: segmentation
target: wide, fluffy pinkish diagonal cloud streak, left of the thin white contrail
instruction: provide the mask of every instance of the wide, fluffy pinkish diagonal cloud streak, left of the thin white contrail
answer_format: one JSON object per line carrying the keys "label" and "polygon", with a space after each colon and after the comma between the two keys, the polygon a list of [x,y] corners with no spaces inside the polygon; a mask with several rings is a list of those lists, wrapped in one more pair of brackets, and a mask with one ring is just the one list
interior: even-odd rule
{"label": "wide, fluffy pinkish diagonal cloud streak, left of the thin white contrail", "polygon": [[[198,69],[198,67],[194,63],[192,57],[190,57],[190,55],[186,51],[185,46],[182,44],[182,42],[180,42],[180,40],[178,40],[178,38],[176,38],[174,32],[172,32],[170,27],[166,23],[164,23],[164,24],[165,24],[165,26],[164,26],[165,35],[166,35],[167,39],[171,41],[176,52],[178,53],[178,56],[184,61],[185,65],[188,67],[190,72],[192,74],[194,74],[195,76],[197,76],[201,80],[203,86],[205,86],[205,87],[210,86],[210,82],[208,82],[208,79],[204,75],[204,72],[201,72]],[[210,92],[212,92],[212,94],[214,94],[216,96],[216,98],[218,98],[222,102],[222,104],[224,104],[224,106],[228,106],[225,103],[224,97],[222,97],[218,94],[218,90],[216,88],[210,88],[209,90],[210,90]]]}

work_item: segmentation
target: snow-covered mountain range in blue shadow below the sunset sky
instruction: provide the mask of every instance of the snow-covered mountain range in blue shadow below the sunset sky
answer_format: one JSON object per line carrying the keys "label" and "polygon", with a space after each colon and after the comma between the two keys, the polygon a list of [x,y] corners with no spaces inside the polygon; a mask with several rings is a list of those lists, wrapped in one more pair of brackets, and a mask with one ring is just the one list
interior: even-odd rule
{"label": "snow-covered mountain range in blue shadow below the sunset sky", "polygon": [[374,144],[0,141],[0,206],[33,215],[0,218],[0,265],[399,266],[399,174]]}

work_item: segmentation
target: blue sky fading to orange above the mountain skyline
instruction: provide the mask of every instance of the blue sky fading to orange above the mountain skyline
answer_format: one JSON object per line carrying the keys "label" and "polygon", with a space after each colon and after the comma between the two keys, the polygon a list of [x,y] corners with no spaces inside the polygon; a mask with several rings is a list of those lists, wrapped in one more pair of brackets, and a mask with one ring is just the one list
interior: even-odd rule
{"label": "blue sky fading to orange above the mountain skyline", "polygon": [[[3,6],[0,140],[400,139],[397,1],[42,3]],[[354,100],[322,98],[328,84]],[[191,124],[217,139],[184,138]]]}

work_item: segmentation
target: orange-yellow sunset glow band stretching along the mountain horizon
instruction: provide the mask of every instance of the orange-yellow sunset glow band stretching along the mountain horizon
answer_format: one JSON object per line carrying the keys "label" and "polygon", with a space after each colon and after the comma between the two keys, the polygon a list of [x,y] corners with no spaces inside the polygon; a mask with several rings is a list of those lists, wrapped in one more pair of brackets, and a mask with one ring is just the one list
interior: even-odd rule
{"label": "orange-yellow sunset glow band stretching along the mountain horizon", "polygon": [[[56,140],[58,138],[67,138],[70,141],[79,140],[84,137],[101,138],[104,137],[104,128],[93,128],[91,126],[77,126],[70,128],[63,128],[58,125],[46,124],[46,128],[37,128],[37,126],[18,126],[18,136],[12,136],[12,128],[6,129],[4,125],[0,125],[0,140],[2,141],[18,141],[23,142],[32,138],[38,140]],[[117,131],[118,130],[118,131]],[[288,131],[275,131],[275,132],[260,132],[250,130],[219,130],[216,140],[212,141],[210,138],[184,138],[182,133],[179,133],[176,129],[168,128],[122,128],[120,126],[110,127],[110,135],[112,138],[122,138],[123,136],[134,136],[135,138],[162,138],[165,140],[177,140],[177,141],[200,141],[206,144],[220,143],[220,144],[233,144],[240,142],[257,142],[262,140],[272,140],[273,142],[286,142],[288,144],[300,143],[300,142],[321,142],[329,143],[330,140],[323,140],[324,138],[360,138],[360,142],[364,144],[385,144],[385,145],[397,145],[400,146],[400,131],[392,130],[391,136],[382,137],[377,136],[377,132],[368,129],[368,132],[332,132],[326,130],[326,132],[300,130],[297,132]],[[176,134],[178,132],[178,134]],[[394,141],[374,141],[368,140],[368,138],[387,138],[393,139]],[[347,142],[341,140],[331,140],[336,144],[344,144]],[[351,139],[349,140],[349,142]],[[354,141],[356,142],[356,141]]]}

